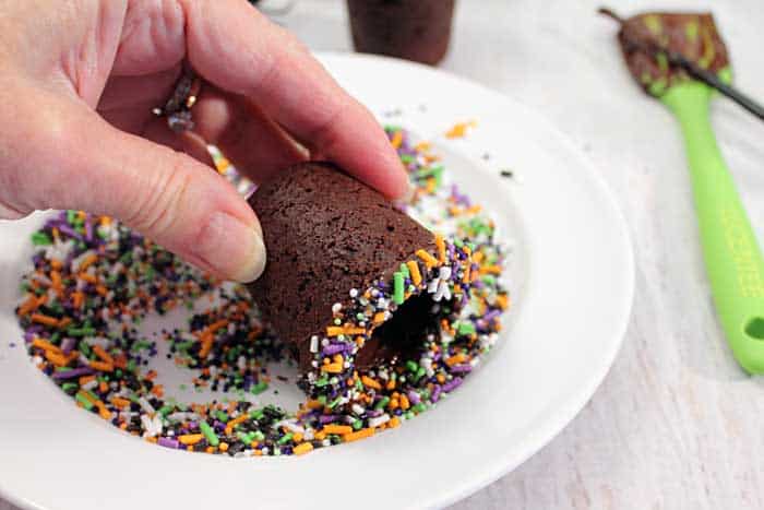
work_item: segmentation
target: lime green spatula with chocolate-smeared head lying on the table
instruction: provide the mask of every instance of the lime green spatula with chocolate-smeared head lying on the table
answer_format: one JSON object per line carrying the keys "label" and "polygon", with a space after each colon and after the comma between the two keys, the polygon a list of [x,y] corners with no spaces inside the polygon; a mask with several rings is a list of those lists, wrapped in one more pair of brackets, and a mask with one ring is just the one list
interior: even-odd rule
{"label": "lime green spatula with chocolate-smeared head lying on the table", "polygon": [[629,71],[675,114],[684,135],[703,254],[716,309],[740,365],[764,373],[764,259],[709,118],[714,90],[731,82],[727,48],[709,13],[644,13],[621,20]]}

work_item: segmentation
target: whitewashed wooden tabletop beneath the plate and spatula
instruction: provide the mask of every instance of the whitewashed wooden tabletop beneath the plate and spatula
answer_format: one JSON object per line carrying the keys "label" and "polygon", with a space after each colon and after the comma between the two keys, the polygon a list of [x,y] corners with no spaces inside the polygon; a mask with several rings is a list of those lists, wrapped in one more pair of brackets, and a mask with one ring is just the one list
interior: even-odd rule
{"label": "whitewashed wooden tabletop beneath the plate and spatula", "polygon": [[[764,100],[761,0],[610,3],[623,14],[656,5],[711,8],[737,83]],[[678,129],[632,84],[597,7],[458,0],[442,67],[535,106],[588,153],[620,199],[637,271],[623,349],[590,403],[523,466],[455,508],[764,508],[764,381],[737,367],[713,313]],[[314,49],[350,48],[339,0],[299,0],[284,21]],[[764,124],[723,99],[713,109],[761,233]]]}

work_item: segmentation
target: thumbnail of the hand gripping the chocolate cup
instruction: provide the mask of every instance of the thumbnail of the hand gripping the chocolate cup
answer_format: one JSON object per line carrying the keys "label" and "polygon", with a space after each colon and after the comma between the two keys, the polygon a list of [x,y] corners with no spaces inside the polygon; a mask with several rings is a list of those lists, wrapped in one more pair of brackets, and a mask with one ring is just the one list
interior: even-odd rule
{"label": "thumbnail of the hand gripping the chocolate cup", "polygon": [[265,244],[260,232],[226,213],[214,213],[192,247],[220,276],[247,283],[265,269]]}

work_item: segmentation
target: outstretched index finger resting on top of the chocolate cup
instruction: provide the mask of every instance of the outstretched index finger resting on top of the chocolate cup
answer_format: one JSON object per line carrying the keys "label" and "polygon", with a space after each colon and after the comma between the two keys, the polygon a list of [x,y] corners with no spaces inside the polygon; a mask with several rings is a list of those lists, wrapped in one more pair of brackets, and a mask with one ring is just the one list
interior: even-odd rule
{"label": "outstretched index finger resting on top of the chocolate cup", "polygon": [[287,31],[244,0],[182,0],[188,58],[218,87],[249,97],[300,142],[391,198],[406,173],[384,131]]}

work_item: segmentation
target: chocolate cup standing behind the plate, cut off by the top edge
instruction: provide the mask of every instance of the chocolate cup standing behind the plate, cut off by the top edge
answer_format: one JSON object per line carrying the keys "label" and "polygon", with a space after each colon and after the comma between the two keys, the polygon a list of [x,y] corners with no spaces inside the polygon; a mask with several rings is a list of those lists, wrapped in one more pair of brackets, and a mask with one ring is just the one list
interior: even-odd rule
{"label": "chocolate cup standing behind the plate, cut off by the top edge", "polygon": [[356,51],[431,66],[449,49],[454,0],[347,0]]}

